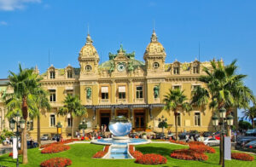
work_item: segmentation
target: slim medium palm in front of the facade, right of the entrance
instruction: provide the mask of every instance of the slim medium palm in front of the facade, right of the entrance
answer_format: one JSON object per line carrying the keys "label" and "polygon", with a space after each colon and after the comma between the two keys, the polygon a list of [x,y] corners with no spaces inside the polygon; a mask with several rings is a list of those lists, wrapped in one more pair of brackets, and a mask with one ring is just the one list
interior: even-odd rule
{"label": "slim medium palm in front of the facade, right of the entrance", "polygon": [[165,95],[164,102],[165,110],[174,112],[175,117],[175,133],[176,133],[176,140],[177,140],[177,110],[178,107],[182,107],[185,111],[191,111],[192,107],[190,106],[189,102],[187,101],[186,95],[183,95],[183,90],[180,89],[169,89],[167,95]]}

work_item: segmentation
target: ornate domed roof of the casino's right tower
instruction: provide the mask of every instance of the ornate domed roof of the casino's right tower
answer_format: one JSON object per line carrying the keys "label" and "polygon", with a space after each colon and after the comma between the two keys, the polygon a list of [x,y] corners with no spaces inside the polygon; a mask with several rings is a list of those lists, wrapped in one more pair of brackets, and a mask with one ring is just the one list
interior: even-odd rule
{"label": "ornate domed roof of the casino's right tower", "polygon": [[151,36],[151,42],[148,43],[148,46],[145,50],[144,59],[145,59],[145,56],[150,56],[150,55],[166,56],[165,48],[163,47],[163,45],[160,42],[157,41],[157,36],[154,31]]}

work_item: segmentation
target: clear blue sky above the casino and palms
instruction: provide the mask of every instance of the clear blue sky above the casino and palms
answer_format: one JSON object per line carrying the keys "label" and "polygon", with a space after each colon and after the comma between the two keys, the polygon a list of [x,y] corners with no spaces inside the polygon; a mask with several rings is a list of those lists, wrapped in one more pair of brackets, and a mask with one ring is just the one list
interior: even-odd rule
{"label": "clear blue sky above the casino and palms", "polygon": [[166,48],[166,62],[237,59],[256,92],[256,1],[249,0],[0,0],[0,78],[24,67],[79,66],[87,25],[101,57],[119,44],[143,60],[153,29]]}

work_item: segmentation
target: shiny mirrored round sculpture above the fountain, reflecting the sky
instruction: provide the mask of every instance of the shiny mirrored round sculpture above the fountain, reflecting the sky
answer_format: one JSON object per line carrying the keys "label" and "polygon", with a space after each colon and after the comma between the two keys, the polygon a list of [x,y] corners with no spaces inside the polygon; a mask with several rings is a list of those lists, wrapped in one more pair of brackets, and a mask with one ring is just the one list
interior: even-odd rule
{"label": "shiny mirrored round sculpture above the fountain, reflecting the sky", "polygon": [[131,122],[124,116],[115,117],[109,123],[109,130],[115,136],[128,135],[131,128]]}

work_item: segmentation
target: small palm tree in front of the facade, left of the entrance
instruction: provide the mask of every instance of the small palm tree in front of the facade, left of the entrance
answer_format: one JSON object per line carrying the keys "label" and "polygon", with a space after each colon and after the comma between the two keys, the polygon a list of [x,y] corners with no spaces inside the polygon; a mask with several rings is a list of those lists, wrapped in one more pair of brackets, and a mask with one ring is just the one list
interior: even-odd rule
{"label": "small palm tree in front of the facade, left of the entrance", "polygon": [[58,114],[67,115],[70,114],[71,120],[71,137],[73,138],[73,117],[83,116],[87,114],[86,108],[82,106],[78,96],[67,95],[63,101],[64,106],[60,108]]}

